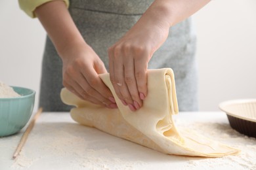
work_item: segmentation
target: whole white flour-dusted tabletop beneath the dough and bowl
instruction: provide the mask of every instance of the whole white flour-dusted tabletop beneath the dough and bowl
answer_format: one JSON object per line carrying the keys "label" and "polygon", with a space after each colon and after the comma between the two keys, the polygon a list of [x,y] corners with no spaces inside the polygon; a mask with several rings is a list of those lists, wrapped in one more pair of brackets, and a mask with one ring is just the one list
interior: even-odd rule
{"label": "whole white flour-dusted tabletop beneath the dough and bowl", "polygon": [[237,156],[193,158],[150,148],[81,126],[68,112],[43,112],[22,152],[12,154],[24,133],[0,138],[0,170],[5,169],[256,169],[256,139],[232,129],[224,112],[180,112],[177,127],[189,127],[242,150]]}

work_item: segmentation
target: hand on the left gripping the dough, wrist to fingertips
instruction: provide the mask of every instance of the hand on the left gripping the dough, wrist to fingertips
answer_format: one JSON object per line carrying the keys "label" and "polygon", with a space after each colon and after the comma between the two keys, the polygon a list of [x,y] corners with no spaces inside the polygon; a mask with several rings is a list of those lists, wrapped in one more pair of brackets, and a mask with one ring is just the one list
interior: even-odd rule
{"label": "hand on the left gripping the dough, wrist to fingertips", "polygon": [[75,45],[62,53],[63,85],[83,100],[117,108],[110,89],[98,74],[107,73],[104,63],[88,44]]}

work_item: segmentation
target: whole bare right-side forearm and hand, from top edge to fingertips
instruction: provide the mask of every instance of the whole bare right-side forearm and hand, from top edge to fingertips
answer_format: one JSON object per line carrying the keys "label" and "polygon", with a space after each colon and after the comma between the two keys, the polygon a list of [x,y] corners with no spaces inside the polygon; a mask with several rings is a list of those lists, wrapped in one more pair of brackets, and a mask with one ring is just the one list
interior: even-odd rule
{"label": "whole bare right-side forearm and hand, from top edge to fingertips", "polygon": [[148,61],[167,39],[169,28],[209,1],[155,0],[126,35],[109,48],[110,80],[124,105],[133,111],[140,109],[147,95]]}

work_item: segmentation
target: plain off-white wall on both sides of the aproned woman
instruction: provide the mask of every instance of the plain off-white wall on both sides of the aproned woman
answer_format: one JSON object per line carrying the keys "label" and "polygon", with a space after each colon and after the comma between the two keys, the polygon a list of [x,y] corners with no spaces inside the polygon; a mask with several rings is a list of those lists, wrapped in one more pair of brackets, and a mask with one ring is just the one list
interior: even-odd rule
{"label": "plain off-white wall on both sides of the aproned woman", "polygon": [[[200,110],[230,99],[256,98],[256,1],[211,1],[194,17],[198,34]],[[45,31],[16,0],[0,1],[0,81],[37,92]]]}

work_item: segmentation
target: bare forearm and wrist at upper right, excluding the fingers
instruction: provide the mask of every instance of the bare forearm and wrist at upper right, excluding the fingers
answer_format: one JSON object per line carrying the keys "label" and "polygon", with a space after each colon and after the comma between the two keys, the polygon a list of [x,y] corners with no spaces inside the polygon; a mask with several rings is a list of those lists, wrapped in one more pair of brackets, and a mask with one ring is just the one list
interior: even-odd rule
{"label": "bare forearm and wrist at upper right, excluding the fingers", "polygon": [[[126,33],[125,37],[146,35],[150,56],[167,39],[169,28],[200,10],[210,0],[156,0]],[[135,38],[136,39],[136,38]]]}

